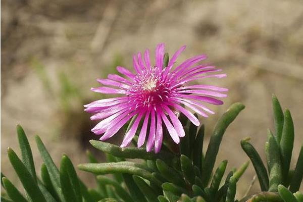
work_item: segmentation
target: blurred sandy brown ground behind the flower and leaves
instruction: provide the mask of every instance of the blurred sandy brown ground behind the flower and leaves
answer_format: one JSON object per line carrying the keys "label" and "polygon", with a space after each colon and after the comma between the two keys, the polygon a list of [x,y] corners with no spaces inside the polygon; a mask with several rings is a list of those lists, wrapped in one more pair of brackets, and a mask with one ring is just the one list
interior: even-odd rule
{"label": "blurred sandy brown ground behind the flower and leaves", "polygon": [[[247,136],[264,158],[275,93],[283,109],[292,112],[295,165],[303,141],[300,0],[4,0],[1,29],[1,171],[17,184],[6,154],[8,146],[19,151],[16,124],[28,134],[37,170],[41,159],[35,134],[57,164],[62,153],[75,165],[86,162],[88,140],[97,137],[90,132],[95,123],[83,105],[102,98],[90,87],[98,86],[96,78],[115,73],[117,65],[132,69],[132,54],[147,47],[154,52],[159,42],[166,43],[170,55],[186,44],[179,62],[205,53],[207,62],[228,74],[205,81],[230,89],[225,105],[212,107],[216,115],[201,119],[207,130],[205,144],[230,104],[246,105],[226,131],[217,163],[227,159],[230,169],[246,161],[240,139]],[[78,173],[92,184],[90,174]],[[239,197],[253,176],[250,165],[239,181]],[[250,192],[257,190],[255,183]]]}

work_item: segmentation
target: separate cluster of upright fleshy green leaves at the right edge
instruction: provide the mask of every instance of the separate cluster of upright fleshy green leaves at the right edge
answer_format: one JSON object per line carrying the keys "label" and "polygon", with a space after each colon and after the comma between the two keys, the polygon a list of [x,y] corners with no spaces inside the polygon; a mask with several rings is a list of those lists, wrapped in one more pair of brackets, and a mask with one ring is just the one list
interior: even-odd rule
{"label": "separate cluster of upright fleshy green leaves at the right edge", "polygon": [[[272,97],[275,132],[268,130],[268,141],[265,143],[267,169],[258,151],[245,138],[241,141],[241,146],[254,165],[261,190],[258,196],[264,200],[271,200],[270,197],[277,197],[280,201],[300,201],[292,194],[299,190],[303,177],[303,145],[297,159],[294,170],[290,169],[290,160],[294,143],[294,127],[290,111],[283,113],[279,100],[275,95]],[[274,192],[274,193],[273,193]],[[279,194],[277,193],[279,192]],[[300,193],[296,193],[300,198]],[[269,197],[269,198],[267,198]],[[253,197],[252,197],[253,198]],[[278,199],[274,200],[278,200]],[[283,200],[282,200],[283,199]],[[259,201],[259,200],[251,200]]]}

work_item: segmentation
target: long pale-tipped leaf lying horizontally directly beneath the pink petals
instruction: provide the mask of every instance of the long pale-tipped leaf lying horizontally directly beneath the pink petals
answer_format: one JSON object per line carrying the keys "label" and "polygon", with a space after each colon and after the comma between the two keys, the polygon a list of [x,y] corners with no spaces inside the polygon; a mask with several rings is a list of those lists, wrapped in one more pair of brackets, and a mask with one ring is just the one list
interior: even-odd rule
{"label": "long pale-tipped leaf lying horizontally directly beneath the pink petals", "polygon": [[172,162],[174,159],[174,155],[160,151],[160,153],[155,154],[153,152],[147,152],[145,148],[136,148],[136,147],[124,147],[121,148],[114,144],[90,140],[90,144],[103,151],[104,153],[111,154],[115,157],[127,158],[127,159],[145,159],[145,160],[156,160],[162,159],[165,162]]}

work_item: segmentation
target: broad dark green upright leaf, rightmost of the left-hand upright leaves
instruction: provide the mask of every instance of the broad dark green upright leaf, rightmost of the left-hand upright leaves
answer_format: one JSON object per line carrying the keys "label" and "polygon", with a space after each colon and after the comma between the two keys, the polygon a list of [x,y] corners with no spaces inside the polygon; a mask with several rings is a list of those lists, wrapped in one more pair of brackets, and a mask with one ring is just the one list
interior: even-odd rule
{"label": "broad dark green upright leaf, rightmost of the left-hand upright leaves", "polygon": [[71,160],[66,155],[63,155],[61,159],[60,182],[62,186],[62,193],[67,202],[82,201],[82,194],[77,173]]}

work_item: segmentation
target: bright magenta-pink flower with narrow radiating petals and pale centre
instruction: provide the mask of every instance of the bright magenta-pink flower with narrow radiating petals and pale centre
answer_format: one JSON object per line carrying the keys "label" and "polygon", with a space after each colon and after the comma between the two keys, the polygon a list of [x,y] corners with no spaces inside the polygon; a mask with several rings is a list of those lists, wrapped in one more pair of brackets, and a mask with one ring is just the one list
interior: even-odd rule
{"label": "bright magenta-pink flower with narrow radiating petals and pale centre", "polygon": [[144,144],[148,134],[146,150],[151,151],[155,148],[155,153],[158,153],[162,145],[163,127],[166,127],[177,144],[180,137],[185,135],[177,117],[178,113],[183,113],[194,125],[200,124],[199,120],[182,106],[203,117],[208,117],[207,113],[214,114],[203,103],[222,105],[223,102],[215,97],[226,97],[227,95],[222,92],[228,89],[213,85],[187,84],[203,78],[226,77],[226,74],[209,74],[219,72],[221,69],[209,64],[197,64],[205,60],[206,55],[189,58],[174,68],[177,57],[184,49],[185,46],[182,46],[168,64],[164,65],[165,45],[160,43],[156,47],[155,65],[151,64],[149,50],[146,49],[144,56],[141,53],[133,56],[135,73],[118,66],[118,72],[124,77],[109,74],[107,79],[97,79],[106,86],[91,88],[92,91],[121,96],[96,100],[84,106],[86,112],[94,113],[91,120],[101,120],[91,131],[96,135],[103,134],[100,140],[106,140],[135,116],[121,147],[130,144],[142,120],[138,147]]}

